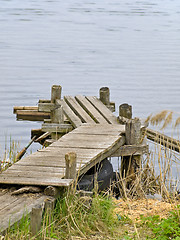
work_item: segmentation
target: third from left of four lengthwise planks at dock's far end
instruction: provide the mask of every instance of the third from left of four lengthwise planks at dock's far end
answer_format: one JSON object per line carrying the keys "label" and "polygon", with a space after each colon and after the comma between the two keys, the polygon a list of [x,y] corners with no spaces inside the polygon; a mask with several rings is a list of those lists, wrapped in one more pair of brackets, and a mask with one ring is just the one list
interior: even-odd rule
{"label": "third from left of four lengthwise planks at dock's far end", "polygon": [[97,111],[97,109],[85,98],[85,96],[78,95],[75,97],[81,107],[91,116],[96,123],[108,124],[107,120]]}

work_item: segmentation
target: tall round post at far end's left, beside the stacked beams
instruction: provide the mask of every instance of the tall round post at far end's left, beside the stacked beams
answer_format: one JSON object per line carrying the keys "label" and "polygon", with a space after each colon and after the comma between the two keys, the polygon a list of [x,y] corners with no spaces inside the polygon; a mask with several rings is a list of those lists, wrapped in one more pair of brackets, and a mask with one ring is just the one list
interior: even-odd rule
{"label": "tall round post at far end's left, beside the stacked beams", "polygon": [[[53,85],[51,89],[51,103],[54,103],[54,109],[51,111],[51,122],[52,123],[64,123],[64,114],[62,106],[59,106],[56,100],[61,99],[62,87],[60,85]],[[51,134],[52,139],[58,140],[59,136],[57,133]],[[60,136],[61,137],[61,136]]]}

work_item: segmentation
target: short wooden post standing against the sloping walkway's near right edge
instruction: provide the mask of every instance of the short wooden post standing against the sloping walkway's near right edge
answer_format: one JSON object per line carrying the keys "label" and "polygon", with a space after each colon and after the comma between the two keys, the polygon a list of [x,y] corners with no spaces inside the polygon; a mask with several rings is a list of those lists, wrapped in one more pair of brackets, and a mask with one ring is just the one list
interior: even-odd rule
{"label": "short wooden post standing against the sloping walkway's near right edge", "polygon": [[66,179],[75,179],[76,177],[76,153],[69,152],[65,154],[65,161],[66,161]]}

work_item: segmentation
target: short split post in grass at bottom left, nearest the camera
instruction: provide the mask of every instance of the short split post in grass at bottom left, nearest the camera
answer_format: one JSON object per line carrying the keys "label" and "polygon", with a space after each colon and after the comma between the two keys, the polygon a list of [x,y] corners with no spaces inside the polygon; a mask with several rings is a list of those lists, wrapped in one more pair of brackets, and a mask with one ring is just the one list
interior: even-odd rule
{"label": "short split post in grass at bottom left, nearest the camera", "polygon": [[31,211],[30,232],[31,236],[35,236],[41,229],[42,206],[36,205]]}

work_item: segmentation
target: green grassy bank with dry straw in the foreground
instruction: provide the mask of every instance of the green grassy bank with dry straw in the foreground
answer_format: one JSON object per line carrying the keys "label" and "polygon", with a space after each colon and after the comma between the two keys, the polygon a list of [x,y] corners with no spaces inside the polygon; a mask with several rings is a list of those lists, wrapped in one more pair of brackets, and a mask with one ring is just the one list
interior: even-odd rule
{"label": "green grassy bank with dry straw in the foreground", "polygon": [[[148,204],[147,199],[144,201]],[[158,202],[154,200],[149,207],[155,207]],[[126,207],[123,208],[123,204]],[[139,204],[138,200],[119,201],[110,195],[94,194],[90,199],[67,193],[58,199],[51,217],[44,214],[37,236],[30,236],[27,216],[2,239],[180,239],[180,206],[177,202],[171,205],[170,212],[167,208],[163,217],[160,211],[159,215],[143,214],[143,208],[136,217],[134,213],[138,210],[134,205]]]}

